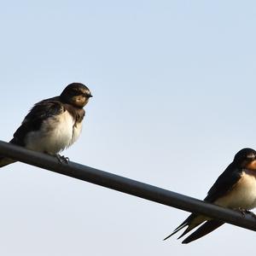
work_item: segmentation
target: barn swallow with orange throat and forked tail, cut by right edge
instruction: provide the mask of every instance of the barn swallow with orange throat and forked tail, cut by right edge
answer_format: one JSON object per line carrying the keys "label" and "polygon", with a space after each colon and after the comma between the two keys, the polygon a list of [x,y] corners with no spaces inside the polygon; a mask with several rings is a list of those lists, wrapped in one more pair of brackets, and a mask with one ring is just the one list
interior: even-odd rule
{"label": "barn swallow with orange throat and forked tail, cut by right edge", "polygon": [[[236,209],[243,214],[256,207],[256,151],[252,148],[243,148],[236,153],[233,162],[230,163],[230,166],[225,169],[212,185],[204,201],[221,207]],[[251,213],[253,214],[253,212]],[[173,230],[170,236],[187,226],[183,234],[177,238],[179,239],[200,224],[202,225],[183,240],[182,243],[195,241],[201,238],[201,236],[216,230],[224,222],[191,213],[182,224]],[[164,240],[170,236],[167,236]]]}

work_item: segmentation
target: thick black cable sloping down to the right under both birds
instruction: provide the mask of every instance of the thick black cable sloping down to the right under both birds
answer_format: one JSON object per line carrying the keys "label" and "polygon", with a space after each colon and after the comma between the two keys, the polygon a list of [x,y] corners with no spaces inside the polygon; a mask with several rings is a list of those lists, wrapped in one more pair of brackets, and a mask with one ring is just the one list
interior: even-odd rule
{"label": "thick black cable sloping down to the right under both birds", "polygon": [[141,183],[127,177],[121,177],[110,172],[103,172],[90,166],[83,166],[75,162],[61,164],[55,157],[48,154],[41,154],[2,141],[0,141],[0,155],[19,160],[32,166],[38,166],[51,172],[57,172],[89,183],[95,183],[108,189],[115,189],[149,201],[158,202],[169,207],[176,207],[187,212],[200,213],[248,230],[256,230],[256,218],[251,214],[243,215],[241,212],[218,207],[205,201],[177,194],[147,183]]}

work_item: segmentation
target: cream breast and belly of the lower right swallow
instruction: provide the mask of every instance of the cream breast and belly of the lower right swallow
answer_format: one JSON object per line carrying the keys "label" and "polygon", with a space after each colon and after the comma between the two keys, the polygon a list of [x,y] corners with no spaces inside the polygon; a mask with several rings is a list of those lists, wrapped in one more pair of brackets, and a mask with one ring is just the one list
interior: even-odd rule
{"label": "cream breast and belly of the lower right swallow", "polygon": [[230,208],[253,209],[256,207],[256,173],[253,171],[242,172],[241,179],[230,192],[219,198],[214,203]]}

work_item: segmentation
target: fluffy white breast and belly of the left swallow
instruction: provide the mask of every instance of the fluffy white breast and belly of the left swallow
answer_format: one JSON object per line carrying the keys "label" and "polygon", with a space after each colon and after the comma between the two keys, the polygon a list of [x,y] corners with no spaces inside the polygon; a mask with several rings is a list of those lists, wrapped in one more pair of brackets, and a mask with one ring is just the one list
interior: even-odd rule
{"label": "fluffy white breast and belly of the left swallow", "polygon": [[72,145],[79,137],[82,124],[75,125],[73,116],[65,111],[44,120],[40,130],[26,135],[26,148],[56,154]]}

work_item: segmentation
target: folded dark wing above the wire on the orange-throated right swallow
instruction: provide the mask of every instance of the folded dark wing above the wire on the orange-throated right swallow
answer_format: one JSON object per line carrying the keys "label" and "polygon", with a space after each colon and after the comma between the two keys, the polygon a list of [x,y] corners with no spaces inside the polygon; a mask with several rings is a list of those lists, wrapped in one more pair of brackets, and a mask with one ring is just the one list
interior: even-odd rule
{"label": "folded dark wing above the wire on the orange-throated right swallow", "polygon": [[205,201],[214,202],[218,198],[226,195],[241,178],[241,168],[237,168],[234,163],[218,177],[212,188],[208,191]]}

